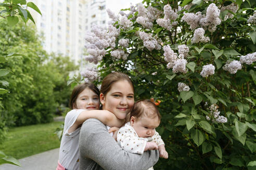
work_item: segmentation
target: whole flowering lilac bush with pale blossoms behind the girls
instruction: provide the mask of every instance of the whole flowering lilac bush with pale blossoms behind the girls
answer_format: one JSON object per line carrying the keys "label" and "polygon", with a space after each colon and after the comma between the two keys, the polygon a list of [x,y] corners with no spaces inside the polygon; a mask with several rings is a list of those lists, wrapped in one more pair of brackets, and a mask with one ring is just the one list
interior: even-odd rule
{"label": "whole flowering lilac bush with pale blossoms behind the girls", "polygon": [[129,75],[137,100],[161,100],[169,159],[156,169],[255,168],[255,1],[143,3],[108,11],[113,24],[88,34],[86,60],[100,77]]}

